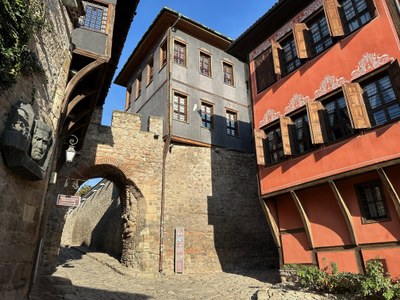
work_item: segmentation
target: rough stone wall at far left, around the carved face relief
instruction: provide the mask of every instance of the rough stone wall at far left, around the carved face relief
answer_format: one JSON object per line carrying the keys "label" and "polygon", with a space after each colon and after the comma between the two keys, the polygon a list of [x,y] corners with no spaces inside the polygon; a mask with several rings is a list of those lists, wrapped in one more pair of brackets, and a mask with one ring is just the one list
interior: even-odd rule
{"label": "rough stone wall at far left, around the carved face relief", "polygon": [[[36,117],[49,124],[53,133],[57,130],[71,59],[71,23],[61,1],[43,2],[46,25],[35,34],[31,48],[44,73],[22,77],[12,88],[1,91],[0,135],[18,101],[30,103]],[[48,177],[28,181],[10,171],[0,158],[0,299],[27,297],[47,183]]]}

